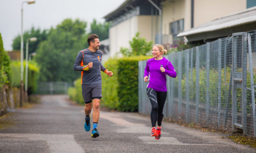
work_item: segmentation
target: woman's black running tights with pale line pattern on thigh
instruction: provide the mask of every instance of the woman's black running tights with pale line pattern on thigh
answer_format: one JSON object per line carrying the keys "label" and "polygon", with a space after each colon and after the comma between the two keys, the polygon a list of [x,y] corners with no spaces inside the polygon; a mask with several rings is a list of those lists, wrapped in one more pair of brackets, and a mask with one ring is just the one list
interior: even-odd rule
{"label": "woman's black running tights with pale line pattern on thigh", "polygon": [[167,97],[167,92],[156,91],[152,88],[147,88],[147,95],[151,103],[152,109],[150,113],[152,127],[161,126],[164,117],[164,103]]}

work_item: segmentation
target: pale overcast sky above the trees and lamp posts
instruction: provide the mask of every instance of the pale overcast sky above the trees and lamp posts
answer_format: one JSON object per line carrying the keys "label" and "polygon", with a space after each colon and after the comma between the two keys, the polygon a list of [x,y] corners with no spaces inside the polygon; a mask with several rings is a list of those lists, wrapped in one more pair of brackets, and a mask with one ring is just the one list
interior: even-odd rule
{"label": "pale overcast sky above the trees and lamp posts", "polygon": [[[4,49],[12,50],[13,39],[21,34],[21,3],[25,0],[0,0],[0,33]],[[104,16],[114,11],[125,0],[36,0],[23,3],[23,32],[56,27],[64,19],[87,21],[88,27],[95,18],[103,22]],[[87,29],[88,30],[88,29]]]}

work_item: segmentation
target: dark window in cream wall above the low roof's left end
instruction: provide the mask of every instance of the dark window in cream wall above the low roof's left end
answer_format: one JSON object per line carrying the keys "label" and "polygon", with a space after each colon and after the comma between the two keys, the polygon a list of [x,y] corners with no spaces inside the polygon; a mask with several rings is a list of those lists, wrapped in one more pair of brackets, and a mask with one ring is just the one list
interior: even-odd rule
{"label": "dark window in cream wall above the low roof's left end", "polygon": [[170,35],[173,36],[173,40],[178,39],[177,35],[184,31],[184,19],[170,23]]}

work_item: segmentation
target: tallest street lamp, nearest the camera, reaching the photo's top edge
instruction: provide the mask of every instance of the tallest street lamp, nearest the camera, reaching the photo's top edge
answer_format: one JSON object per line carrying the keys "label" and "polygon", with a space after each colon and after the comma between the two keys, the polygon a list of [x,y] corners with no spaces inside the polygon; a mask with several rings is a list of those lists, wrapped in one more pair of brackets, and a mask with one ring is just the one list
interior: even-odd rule
{"label": "tallest street lamp, nearest the camera, reaching the photo's top edge", "polygon": [[20,107],[23,102],[23,3],[34,4],[36,1],[24,1],[21,3],[21,89],[20,89]]}

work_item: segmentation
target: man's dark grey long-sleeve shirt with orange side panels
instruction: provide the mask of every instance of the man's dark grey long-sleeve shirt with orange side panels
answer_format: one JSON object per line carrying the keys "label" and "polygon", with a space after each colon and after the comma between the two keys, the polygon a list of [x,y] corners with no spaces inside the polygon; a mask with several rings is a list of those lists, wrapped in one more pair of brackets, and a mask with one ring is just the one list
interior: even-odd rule
{"label": "man's dark grey long-sleeve shirt with orange side panels", "polygon": [[[83,49],[79,51],[76,61],[73,66],[74,71],[82,71],[82,83],[86,85],[98,84],[101,83],[101,73],[102,70],[105,72],[107,69],[101,64],[102,60],[102,51],[97,50],[96,52],[92,52],[89,49]],[[92,62],[93,66],[88,71],[83,71],[83,65],[88,65],[88,63]],[[81,65],[81,66],[80,66]]]}

